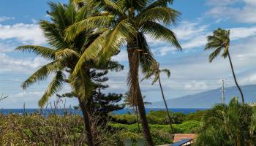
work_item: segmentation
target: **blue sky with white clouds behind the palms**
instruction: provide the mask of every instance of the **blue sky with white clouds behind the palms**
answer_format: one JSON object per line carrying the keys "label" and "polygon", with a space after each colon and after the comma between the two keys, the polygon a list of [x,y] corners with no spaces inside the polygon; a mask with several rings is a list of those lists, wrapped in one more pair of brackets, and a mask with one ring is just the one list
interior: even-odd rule
{"label": "blue sky with white clouds behind the palms", "polygon": [[[22,108],[24,104],[26,108],[37,108],[51,79],[48,77],[45,82],[35,83],[23,91],[20,84],[48,61],[31,53],[15,51],[19,45],[47,45],[37,24],[38,20],[49,20],[47,3],[48,0],[0,1],[0,95],[8,96],[0,101],[0,108]],[[219,88],[222,79],[225,79],[225,86],[235,85],[228,60],[219,57],[210,64],[211,51],[203,50],[206,37],[219,27],[230,29],[230,55],[238,83],[256,83],[256,0],[176,0],[170,7],[182,14],[170,29],[176,33],[183,50],[177,51],[166,42],[146,36],[160,68],[171,72],[170,78],[161,75],[166,99]],[[108,74],[110,88],[105,93],[125,93],[128,90],[126,50],[121,50],[113,60],[125,67],[122,72]],[[160,101],[159,85],[151,85],[151,81],[140,82],[143,96],[146,101]],[[69,85],[64,85],[60,93],[68,91]],[[50,99],[54,100],[54,97]],[[78,104],[77,99],[64,99],[63,102],[67,106]]]}

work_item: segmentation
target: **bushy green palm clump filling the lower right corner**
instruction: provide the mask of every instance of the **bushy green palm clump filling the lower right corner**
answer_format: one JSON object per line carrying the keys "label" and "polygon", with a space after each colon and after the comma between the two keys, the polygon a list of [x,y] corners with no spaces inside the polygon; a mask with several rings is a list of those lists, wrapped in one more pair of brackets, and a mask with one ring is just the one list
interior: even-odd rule
{"label": "bushy green palm clump filling the lower right corner", "polygon": [[256,145],[256,112],[238,98],[214,106],[201,126],[195,145]]}

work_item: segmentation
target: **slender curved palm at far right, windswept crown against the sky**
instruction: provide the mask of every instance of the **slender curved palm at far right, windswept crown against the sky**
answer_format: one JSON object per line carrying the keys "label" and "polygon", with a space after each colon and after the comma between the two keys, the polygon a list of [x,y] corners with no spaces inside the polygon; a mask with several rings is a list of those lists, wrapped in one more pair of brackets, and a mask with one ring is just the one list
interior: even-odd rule
{"label": "slender curved palm at far right, windswept crown against the sky", "polygon": [[241,93],[241,99],[242,103],[244,104],[244,94],[241,91],[240,86],[238,85],[238,82],[236,81],[236,74],[233,69],[233,64],[230,57],[229,47],[230,47],[230,30],[225,30],[222,28],[218,28],[213,32],[213,35],[208,36],[208,43],[206,44],[205,50],[211,50],[214,49],[214,52],[209,55],[209,61],[213,61],[214,58],[216,58],[219,53],[223,50],[222,57],[227,58],[230,61],[231,70],[233,73],[233,77],[236,83],[236,87],[238,88],[238,91]]}

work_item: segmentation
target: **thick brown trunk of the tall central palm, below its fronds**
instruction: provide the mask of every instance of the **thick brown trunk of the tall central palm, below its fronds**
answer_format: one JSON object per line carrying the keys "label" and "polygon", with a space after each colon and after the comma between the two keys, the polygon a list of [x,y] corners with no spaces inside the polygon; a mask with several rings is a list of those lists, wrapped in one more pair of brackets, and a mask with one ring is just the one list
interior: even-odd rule
{"label": "thick brown trunk of the tall central palm, below its fronds", "polygon": [[[133,44],[133,43],[132,43]],[[132,72],[134,70],[132,69],[138,69],[137,64],[134,64],[135,61],[132,61],[132,58],[135,53],[135,48],[134,47],[129,47],[130,45],[128,45],[127,48],[127,52],[128,52],[128,60],[129,60],[129,72]],[[135,68],[136,66],[136,68]],[[151,133],[149,130],[149,126],[148,126],[148,121],[146,118],[146,110],[145,110],[145,106],[144,106],[144,102],[143,102],[143,97],[141,95],[141,91],[140,91],[140,84],[139,84],[139,79],[138,79],[138,72],[136,72],[136,74],[132,74],[135,75],[136,79],[132,81],[132,83],[134,84],[134,88],[132,90],[135,90],[133,92],[136,93],[136,104],[138,105],[138,110],[139,110],[139,114],[140,114],[140,121],[141,121],[141,125],[143,128],[143,134],[144,134],[144,138],[146,140],[146,143],[148,146],[153,146],[153,140],[151,137]]]}

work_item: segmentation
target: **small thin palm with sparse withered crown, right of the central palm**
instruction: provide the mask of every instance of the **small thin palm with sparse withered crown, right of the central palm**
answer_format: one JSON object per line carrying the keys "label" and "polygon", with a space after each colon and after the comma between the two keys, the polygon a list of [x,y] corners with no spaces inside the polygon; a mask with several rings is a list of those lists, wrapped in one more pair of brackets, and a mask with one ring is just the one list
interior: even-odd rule
{"label": "small thin palm with sparse withered crown, right of the central palm", "polygon": [[162,84],[161,84],[161,80],[160,80],[160,74],[162,72],[166,73],[167,77],[170,77],[170,70],[169,69],[159,69],[159,63],[157,61],[155,61],[154,64],[151,65],[148,74],[146,74],[146,76],[142,80],[149,79],[153,75],[154,75],[154,80],[152,82],[152,85],[154,85],[154,83],[157,82],[157,80],[158,80],[159,85],[160,85],[160,89],[161,89],[161,92],[162,92],[162,99],[165,102],[165,110],[166,110],[167,118],[169,120],[170,130],[171,130],[171,132],[173,134],[174,131],[173,131],[173,126],[172,126],[172,120],[170,118],[170,113],[169,113],[169,110],[168,110],[167,103],[165,101],[165,95],[164,95],[164,92],[162,91]]}

